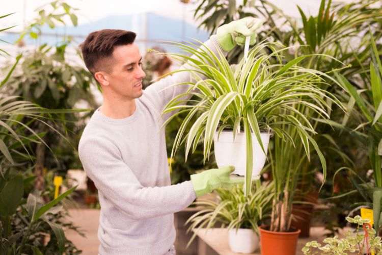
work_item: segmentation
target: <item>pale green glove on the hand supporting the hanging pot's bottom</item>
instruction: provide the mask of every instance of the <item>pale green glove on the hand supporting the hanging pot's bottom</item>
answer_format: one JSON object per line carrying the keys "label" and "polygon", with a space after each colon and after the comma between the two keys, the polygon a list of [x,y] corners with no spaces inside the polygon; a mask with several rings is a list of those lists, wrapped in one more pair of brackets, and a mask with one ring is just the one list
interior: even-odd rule
{"label": "pale green glove on the hand supporting the hanging pot's bottom", "polygon": [[217,188],[230,188],[234,185],[242,184],[244,182],[243,179],[230,179],[229,174],[233,170],[235,170],[233,166],[226,166],[192,174],[191,182],[194,185],[196,196],[202,196]]}

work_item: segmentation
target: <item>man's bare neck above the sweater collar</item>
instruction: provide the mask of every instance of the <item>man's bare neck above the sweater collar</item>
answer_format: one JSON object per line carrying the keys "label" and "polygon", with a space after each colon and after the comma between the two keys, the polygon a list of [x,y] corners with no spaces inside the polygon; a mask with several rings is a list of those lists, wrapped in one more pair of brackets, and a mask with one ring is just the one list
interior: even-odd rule
{"label": "man's bare neck above the sweater collar", "polygon": [[103,104],[99,111],[105,115],[106,117],[112,118],[112,119],[123,119],[131,116],[134,112],[137,106],[135,105],[135,99],[130,100],[116,100],[116,101],[110,101],[105,98],[103,98]]}

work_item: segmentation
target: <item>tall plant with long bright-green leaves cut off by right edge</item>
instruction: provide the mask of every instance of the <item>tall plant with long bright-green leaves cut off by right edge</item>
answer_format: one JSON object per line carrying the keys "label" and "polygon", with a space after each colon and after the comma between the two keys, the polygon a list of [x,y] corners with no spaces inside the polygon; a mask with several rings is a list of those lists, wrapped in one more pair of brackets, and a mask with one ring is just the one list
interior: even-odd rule
{"label": "tall plant with long bright-green leaves cut off by right edge", "polygon": [[[379,52],[375,39],[369,32],[371,42],[371,61],[369,70],[364,70],[369,74],[367,83],[360,85],[354,84],[354,81],[348,81],[344,75],[336,73],[340,83],[350,95],[347,111],[349,114],[356,115],[360,121],[354,129],[350,129],[348,117],[344,118],[342,123],[330,122],[338,129],[349,132],[351,136],[365,144],[370,167],[373,170],[373,183],[367,183],[362,179],[353,178],[352,184],[357,191],[364,197],[366,205],[370,206],[368,201],[372,201],[374,214],[374,229],[378,233],[380,212],[382,207],[380,201],[382,199],[382,173],[381,173],[381,148],[382,148],[382,64],[379,58]],[[357,87],[364,87],[362,90],[357,90]],[[357,106],[357,108],[356,108]],[[340,168],[349,170],[354,176],[359,176],[357,172],[350,168]],[[336,172],[336,173],[337,173]],[[357,181],[360,180],[360,181]],[[352,192],[350,192],[352,193]],[[348,195],[345,193],[343,195]]]}

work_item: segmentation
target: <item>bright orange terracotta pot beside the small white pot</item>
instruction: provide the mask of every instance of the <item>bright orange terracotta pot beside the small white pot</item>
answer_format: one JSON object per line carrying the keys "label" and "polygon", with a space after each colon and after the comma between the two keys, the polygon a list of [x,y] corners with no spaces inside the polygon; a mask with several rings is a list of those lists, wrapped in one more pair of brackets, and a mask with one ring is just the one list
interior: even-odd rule
{"label": "bright orange terracotta pot beside the small white pot", "polygon": [[269,226],[260,226],[261,255],[294,255],[300,230],[292,232],[269,231]]}

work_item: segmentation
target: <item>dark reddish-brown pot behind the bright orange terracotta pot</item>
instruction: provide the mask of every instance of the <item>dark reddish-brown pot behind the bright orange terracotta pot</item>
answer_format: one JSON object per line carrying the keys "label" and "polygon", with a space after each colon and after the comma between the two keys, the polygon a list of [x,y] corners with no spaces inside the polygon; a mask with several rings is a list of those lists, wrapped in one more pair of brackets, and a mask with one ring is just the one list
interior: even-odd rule
{"label": "dark reddish-brown pot behind the bright orange terracotta pot", "polygon": [[296,230],[301,230],[298,237],[309,237],[312,212],[313,205],[301,204],[292,206],[294,219],[292,220],[291,227],[296,228]]}

